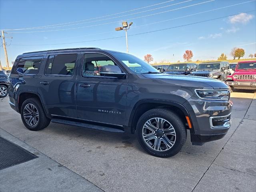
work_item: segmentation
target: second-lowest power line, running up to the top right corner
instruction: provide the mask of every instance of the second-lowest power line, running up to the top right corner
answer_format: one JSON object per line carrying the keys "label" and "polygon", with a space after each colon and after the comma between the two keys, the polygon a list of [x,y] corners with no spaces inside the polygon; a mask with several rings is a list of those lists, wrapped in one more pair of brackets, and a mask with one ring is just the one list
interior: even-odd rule
{"label": "second-lowest power line, running up to the top right corner", "polygon": [[[212,9],[212,10],[207,10],[207,11],[203,11],[203,12],[198,12],[198,13],[194,13],[194,14],[190,14],[190,15],[186,15],[186,16],[181,16],[181,17],[171,18],[171,19],[162,20],[162,21],[158,21],[158,22],[153,22],[153,23],[149,23],[149,24],[144,24],[144,25],[140,25],[140,26],[134,26],[133,28],[148,26],[148,25],[152,25],[152,24],[157,24],[157,23],[166,22],[166,21],[170,21],[170,20],[185,18],[185,17],[189,17],[189,16],[194,16],[194,15],[198,15],[198,14],[202,14],[202,13],[206,13],[206,12],[211,12],[211,11],[215,11],[215,10],[220,10],[220,9],[232,7],[232,6],[237,6],[237,5],[240,5],[240,4],[245,4],[245,3],[248,3],[248,2],[252,2],[252,1],[254,1],[254,0],[250,0],[250,1],[247,1],[247,2],[242,2],[242,3],[238,3],[238,4],[233,4],[233,5],[229,5],[229,6],[224,6],[224,7],[220,7],[220,8],[216,8],[216,9]],[[112,32],[115,32],[115,31],[113,30],[113,31],[102,32],[102,33],[94,33],[94,34],[88,34],[88,35],[82,35],[82,36],[74,36],[74,37],[70,37],[70,38],[86,37],[86,36],[106,34],[106,33],[112,33]],[[68,39],[68,38],[59,38],[59,39],[54,39],[54,40],[62,40],[62,39]],[[40,40],[40,42],[41,41],[42,40]],[[34,41],[34,42],[38,42],[38,41]]]}

